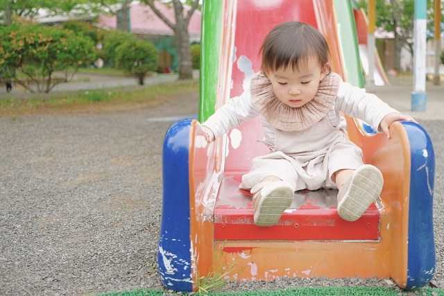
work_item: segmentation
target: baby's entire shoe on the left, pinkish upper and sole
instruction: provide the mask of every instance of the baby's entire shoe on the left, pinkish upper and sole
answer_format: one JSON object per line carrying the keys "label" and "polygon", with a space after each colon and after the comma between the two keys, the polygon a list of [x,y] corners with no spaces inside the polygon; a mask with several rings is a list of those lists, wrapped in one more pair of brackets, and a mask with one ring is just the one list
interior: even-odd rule
{"label": "baby's entire shoe on the left, pinkish upper and sole", "polygon": [[273,226],[290,206],[294,198],[293,188],[280,178],[266,176],[251,189],[255,225]]}

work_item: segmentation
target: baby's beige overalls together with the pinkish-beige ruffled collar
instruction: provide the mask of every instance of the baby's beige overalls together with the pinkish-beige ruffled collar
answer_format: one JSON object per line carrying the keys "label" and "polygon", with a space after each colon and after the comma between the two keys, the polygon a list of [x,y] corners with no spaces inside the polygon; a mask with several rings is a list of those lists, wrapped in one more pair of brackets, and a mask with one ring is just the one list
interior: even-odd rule
{"label": "baby's beige overalls together with the pinkish-beige ruffled collar", "polygon": [[269,175],[288,182],[295,191],[336,188],[333,173],[364,164],[361,149],[346,140],[343,131],[332,126],[325,116],[336,98],[339,80],[335,73],[327,76],[320,85],[321,91],[306,104],[306,110],[290,110],[277,101],[268,78],[260,73],[253,76],[251,100],[275,127],[275,142],[268,145],[270,154],[253,159],[250,172],[242,177],[241,188],[250,189]]}

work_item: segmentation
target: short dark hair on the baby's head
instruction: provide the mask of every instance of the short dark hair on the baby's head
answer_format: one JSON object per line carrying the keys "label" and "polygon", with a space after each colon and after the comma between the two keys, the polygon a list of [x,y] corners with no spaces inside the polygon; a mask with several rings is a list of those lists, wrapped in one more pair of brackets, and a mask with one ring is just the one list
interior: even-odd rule
{"label": "short dark hair on the baby's head", "polygon": [[330,61],[330,50],[323,35],[313,26],[300,21],[287,21],[275,26],[265,37],[262,70],[274,72],[281,67],[300,71],[309,58],[317,58],[321,67]]}

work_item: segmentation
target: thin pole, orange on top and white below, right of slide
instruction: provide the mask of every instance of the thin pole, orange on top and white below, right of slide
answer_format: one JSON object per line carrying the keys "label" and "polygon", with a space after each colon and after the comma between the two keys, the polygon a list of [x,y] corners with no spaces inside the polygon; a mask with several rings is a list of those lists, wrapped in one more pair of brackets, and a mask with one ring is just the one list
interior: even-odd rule
{"label": "thin pole, orange on top and white below, right of slide", "polygon": [[367,57],[368,73],[366,79],[366,89],[368,92],[375,92],[375,19],[376,1],[368,0],[368,28],[367,28]]}

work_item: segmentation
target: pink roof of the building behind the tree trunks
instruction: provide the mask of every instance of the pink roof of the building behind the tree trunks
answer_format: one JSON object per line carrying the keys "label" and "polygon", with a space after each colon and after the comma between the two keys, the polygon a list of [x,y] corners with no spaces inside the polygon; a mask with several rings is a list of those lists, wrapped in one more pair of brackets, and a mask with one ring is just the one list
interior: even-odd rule
{"label": "pink roof of the building behind the tree trunks", "polygon": [[[162,3],[155,2],[155,6],[162,14],[175,24],[176,19],[174,17],[173,8],[168,8]],[[190,9],[189,6],[184,6],[184,14]],[[188,33],[192,41],[200,40],[200,19],[202,14],[199,10],[195,10],[191,19],[189,20]],[[167,26],[157,15],[151,10],[148,5],[144,3],[131,3],[130,4],[130,21],[131,32],[135,34],[148,34],[148,35],[174,35],[173,30]],[[102,26],[108,26],[109,28],[117,28],[117,17],[103,15],[99,17],[99,24]]]}

